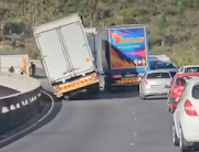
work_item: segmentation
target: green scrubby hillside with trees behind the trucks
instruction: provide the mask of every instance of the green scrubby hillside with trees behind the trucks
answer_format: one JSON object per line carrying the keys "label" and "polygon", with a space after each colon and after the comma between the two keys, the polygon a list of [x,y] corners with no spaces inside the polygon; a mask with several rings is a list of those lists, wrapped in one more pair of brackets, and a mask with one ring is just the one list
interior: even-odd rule
{"label": "green scrubby hillside with trees behind the trucks", "polygon": [[199,64],[199,0],[3,0],[0,53],[39,57],[31,26],[80,12],[85,26],[148,24],[153,54]]}

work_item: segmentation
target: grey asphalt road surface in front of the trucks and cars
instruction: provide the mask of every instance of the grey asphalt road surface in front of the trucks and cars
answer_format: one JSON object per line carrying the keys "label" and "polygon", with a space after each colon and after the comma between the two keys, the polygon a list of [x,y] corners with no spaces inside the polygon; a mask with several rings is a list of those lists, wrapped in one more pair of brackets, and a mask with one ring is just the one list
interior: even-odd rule
{"label": "grey asphalt road surface in front of the trucks and cars", "polygon": [[[43,87],[51,90],[48,80],[41,80]],[[179,151],[172,145],[172,120],[166,110],[166,100],[143,101],[135,93],[103,93],[95,99],[84,96],[84,100],[64,100],[51,122],[0,151]]]}

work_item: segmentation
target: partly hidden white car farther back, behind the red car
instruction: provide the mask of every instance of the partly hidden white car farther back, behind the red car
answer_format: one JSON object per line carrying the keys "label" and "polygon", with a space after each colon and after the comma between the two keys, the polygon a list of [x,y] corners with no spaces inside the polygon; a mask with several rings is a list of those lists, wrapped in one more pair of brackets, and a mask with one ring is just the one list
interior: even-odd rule
{"label": "partly hidden white car farther back, behind the red car", "polygon": [[178,68],[178,73],[186,74],[186,73],[199,73],[199,65],[185,65]]}

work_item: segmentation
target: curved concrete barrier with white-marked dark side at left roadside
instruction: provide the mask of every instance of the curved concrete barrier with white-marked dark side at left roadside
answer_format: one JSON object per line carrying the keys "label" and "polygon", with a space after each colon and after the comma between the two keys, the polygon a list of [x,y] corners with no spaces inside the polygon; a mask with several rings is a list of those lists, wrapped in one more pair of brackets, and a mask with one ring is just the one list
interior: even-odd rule
{"label": "curved concrete barrier with white-marked dark side at left roadside", "polygon": [[0,97],[0,133],[3,133],[31,119],[43,104],[41,83],[34,78],[0,73],[0,85],[19,91]]}

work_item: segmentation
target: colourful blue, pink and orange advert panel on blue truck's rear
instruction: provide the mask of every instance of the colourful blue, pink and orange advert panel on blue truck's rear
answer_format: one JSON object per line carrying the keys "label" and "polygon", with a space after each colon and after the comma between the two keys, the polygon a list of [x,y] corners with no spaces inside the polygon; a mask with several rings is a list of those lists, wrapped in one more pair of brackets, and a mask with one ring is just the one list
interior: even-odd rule
{"label": "colourful blue, pink and orange advert panel on blue truck's rear", "polygon": [[109,29],[112,69],[148,68],[146,26]]}

